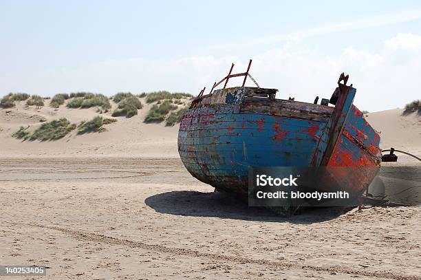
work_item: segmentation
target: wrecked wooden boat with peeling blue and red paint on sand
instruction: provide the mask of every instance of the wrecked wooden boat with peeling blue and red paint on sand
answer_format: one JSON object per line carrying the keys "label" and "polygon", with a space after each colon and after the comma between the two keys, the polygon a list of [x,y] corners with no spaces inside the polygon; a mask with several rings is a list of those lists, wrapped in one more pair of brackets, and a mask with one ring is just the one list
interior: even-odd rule
{"label": "wrecked wooden boat with peeling blue and red paint on sand", "polygon": [[[202,89],[184,112],[180,158],[191,175],[217,191],[248,194],[248,169],[256,166],[346,166],[343,189],[360,195],[380,168],[380,137],[352,103],[356,89],[341,74],[332,97],[314,103],[277,99],[250,76],[230,72],[209,94]],[[241,87],[226,88],[244,76]],[[245,87],[250,77],[256,87]],[[215,89],[221,83],[224,88]],[[329,106],[328,103],[334,106]]]}

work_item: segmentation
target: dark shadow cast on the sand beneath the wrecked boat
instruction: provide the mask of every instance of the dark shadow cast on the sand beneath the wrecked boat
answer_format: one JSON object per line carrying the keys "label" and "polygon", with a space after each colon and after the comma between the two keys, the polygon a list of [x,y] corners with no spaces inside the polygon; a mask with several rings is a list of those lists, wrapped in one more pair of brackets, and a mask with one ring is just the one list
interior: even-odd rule
{"label": "dark shadow cast on the sand beneath the wrecked boat", "polygon": [[312,208],[299,215],[281,217],[267,208],[248,207],[247,203],[228,193],[202,193],[198,191],[171,191],[147,197],[144,202],[158,213],[191,216],[219,217],[261,222],[290,222],[312,224],[324,222],[347,213],[352,207]]}

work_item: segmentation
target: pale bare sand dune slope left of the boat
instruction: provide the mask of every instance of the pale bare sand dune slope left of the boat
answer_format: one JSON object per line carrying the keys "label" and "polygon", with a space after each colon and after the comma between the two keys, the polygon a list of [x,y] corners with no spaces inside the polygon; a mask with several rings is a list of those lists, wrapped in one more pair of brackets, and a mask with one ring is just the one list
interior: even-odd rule
{"label": "pale bare sand dune slope left of the boat", "polygon": [[[117,117],[117,122],[106,125],[107,131],[76,135],[72,132],[56,141],[21,141],[12,137],[19,127],[31,125],[31,129],[41,125],[39,120],[54,120],[61,117],[70,122],[81,122],[98,116],[95,108],[69,109],[61,105],[59,109],[46,106],[36,109],[25,108],[24,102],[17,107],[0,109],[0,157],[85,157],[85,156],[124,156],[174,158],[177,153],[178,126],[165,127],[164,123],[146,124],[144,116],[151,104],[144,104],[137,116],[132,118]],[[112,103],[116,107],[115,103]],[[111,113],[101,114],[111,118]]]}

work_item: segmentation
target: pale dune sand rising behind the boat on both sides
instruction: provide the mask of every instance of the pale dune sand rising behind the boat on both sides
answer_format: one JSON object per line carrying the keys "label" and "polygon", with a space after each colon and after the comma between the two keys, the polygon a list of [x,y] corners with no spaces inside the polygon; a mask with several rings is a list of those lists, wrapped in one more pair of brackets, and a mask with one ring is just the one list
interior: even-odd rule
{"label": "pale dune sand rising behind the boat on both sides", "polygon": [[[132,118],[118,117],[118,122],[107,125],[103,133],[88,133],[76,136],[70,133],[61,140],[50,142],[21,141],[12,138],[12,133],[20,126],[31,125],[32,129],[41,125],[40,120],[54,120],[65,117],[71,122],[89,120],[98,116],[95,108],[59,109],[49,107],[25,108],[24,102],[16,108],[0,109],[0,157],[51,157],[51,156],[124,156],[177,158],[178,125],[165,127],[161,124],[145,124],[144,116],[151,104],[143,102],[144,108]],[[115,103],[111,103],[116,107]],[[111,117],[110,113],[102,116]],[[365,117],[380,131],[382,149],[402,149],[421,156],[421,118],[416,114],[402,116],[402,109],[393,109],[366,114]],[[413,161],[406,155],[400,160]]]}

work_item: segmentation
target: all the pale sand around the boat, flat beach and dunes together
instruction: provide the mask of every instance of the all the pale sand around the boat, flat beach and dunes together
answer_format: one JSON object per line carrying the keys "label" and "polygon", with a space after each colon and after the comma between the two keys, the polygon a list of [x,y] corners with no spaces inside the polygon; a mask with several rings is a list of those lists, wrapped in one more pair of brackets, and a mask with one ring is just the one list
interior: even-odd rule
{"label": "all the pale sand around the boat, flat beach and dunes together", "polygon": [[[0,264],[47,266],[34,279],[421,279],[419,207],[248,208],[191,177],[178,127],[144,124],[146,111],[40,143],[10,135],[96,109],[0,109]],[[419,118],[401,111],[367,120],[382,148],[420,155]]]}

